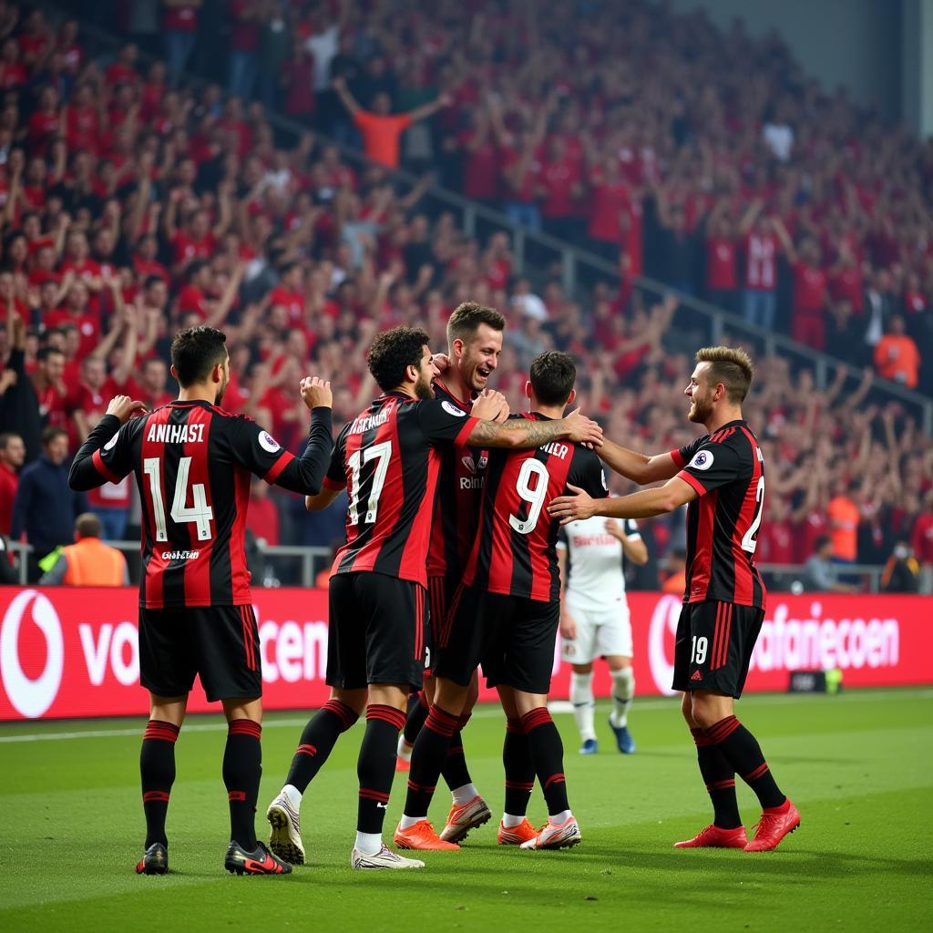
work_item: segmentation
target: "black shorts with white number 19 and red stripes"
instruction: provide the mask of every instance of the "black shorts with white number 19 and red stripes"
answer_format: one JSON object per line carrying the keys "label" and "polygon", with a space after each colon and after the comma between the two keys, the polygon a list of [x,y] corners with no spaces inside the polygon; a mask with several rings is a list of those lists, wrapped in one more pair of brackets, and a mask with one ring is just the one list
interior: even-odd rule
{"label": "black shorts with white number 19 and red stripes", "polygon": [[734,603],[688,603],[674,646],[675,690],[712,690],[738,699],[764,621],[764,609]]}

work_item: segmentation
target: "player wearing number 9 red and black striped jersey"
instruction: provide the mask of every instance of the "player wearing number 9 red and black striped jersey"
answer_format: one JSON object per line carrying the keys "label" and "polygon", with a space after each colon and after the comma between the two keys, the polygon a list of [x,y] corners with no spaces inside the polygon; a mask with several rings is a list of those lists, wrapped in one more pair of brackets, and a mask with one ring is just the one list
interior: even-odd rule
{"label": "player wearing number 9 red and black striped jersey", "polygon": [[[550,351],[533,361],[526,391],[532,411],[519,421],[548,424],[574,399],[577,369],[564,353]],[[547,506],[568,486],[600,494],[606,486],[599,458],[584,446],[550,442],[523,453],[490,453],[480,522],[463,583],[453,597],[435,668],[435,703],[411,755],[405,814],[398,845],[446,848],[430,832],[427,811],[450,736],[466,703],[470,681],[482,664],[506,711],[509,738],[524,737],[524,779],[509,779],[499,841],[526,848],[560,848],[580,841],[567,802],[564,748],[550,719],[547,700],[560,620],[557,566],[558,522]],[[508,769],[508,759],[507,759]],[[539,833],[525,808],[535,774],[550,819]],[[521,787],[509,785],[521,784]]]}

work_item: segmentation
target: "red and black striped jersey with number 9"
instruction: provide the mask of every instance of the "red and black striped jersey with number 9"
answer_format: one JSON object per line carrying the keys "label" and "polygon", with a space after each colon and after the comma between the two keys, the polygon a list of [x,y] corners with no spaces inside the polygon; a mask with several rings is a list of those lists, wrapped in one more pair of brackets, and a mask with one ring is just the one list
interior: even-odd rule
{"label": "red and black striped jersey with number 9", "polygon": [[[550,420],[536,412],[512,417]],[[518,453],[490,452],[479,529],[466,564],[466,586],[542,602],[560,598],[560,522],[551,519],[548,506],[564,494],[567,483],[592,496],[605,495],[599,457],[564,440]]]}

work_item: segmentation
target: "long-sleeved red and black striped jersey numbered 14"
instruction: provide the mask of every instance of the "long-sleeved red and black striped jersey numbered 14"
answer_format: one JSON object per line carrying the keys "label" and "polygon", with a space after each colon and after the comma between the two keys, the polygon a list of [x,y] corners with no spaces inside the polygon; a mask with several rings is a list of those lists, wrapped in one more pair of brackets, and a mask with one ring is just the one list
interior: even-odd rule
{"label": "long-sleeved red and black striped jersey numbered 14", "polygon": [[320,491],[331,447],[330,409],[315,409],[300,458],[245,415],[205,401],[174,401],[120,427],[104,415],[78,451],[74,488],[135,474],[142,503],[140,606],[252,603],[245,530],[253,474]]}

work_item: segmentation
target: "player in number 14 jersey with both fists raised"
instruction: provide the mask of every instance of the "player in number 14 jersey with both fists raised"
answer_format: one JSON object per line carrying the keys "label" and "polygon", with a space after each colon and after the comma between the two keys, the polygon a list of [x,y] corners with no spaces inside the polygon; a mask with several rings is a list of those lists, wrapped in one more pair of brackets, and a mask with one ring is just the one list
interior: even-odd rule
{"label": "player in number 14 jersey with both fists raised", "polygon": [[134,473],[143,503],[139,665],[149,690],[149,723],[140,758],[146,854],[139,873],[168,868],[165,815],[174,742],[195,675],[207,699],[223,703],[229,722],[224,864],[239,874],[291,870],[257,842],[254,826],[262,679],[244,550],[246,509],[254,473],[296,493],[320,490],[332,443],[330,386],[301,381],[312,421],[297,458],[249,418],[219,408],[230,381],[225,340],[213,327],[181,331],[172,343],[178,399],[132,418],[143,403],[115,398],[71,467],[71,485],[82,490]]}

